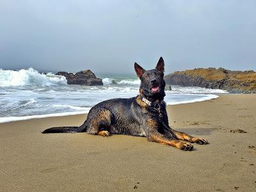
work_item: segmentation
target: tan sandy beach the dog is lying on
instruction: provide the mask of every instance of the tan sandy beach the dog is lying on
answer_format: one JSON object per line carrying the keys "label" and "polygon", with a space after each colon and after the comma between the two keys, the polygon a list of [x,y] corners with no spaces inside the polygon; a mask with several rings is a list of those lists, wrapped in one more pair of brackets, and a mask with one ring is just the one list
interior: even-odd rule
{"label": "tan sandy beach the dog is lying on", "polygon": [[140,137],[40,133],[86,115],[0,124],[0,191],[256,191],[255,111],[256,95],[168,106],[175,129],[209,140],[192,152]]}

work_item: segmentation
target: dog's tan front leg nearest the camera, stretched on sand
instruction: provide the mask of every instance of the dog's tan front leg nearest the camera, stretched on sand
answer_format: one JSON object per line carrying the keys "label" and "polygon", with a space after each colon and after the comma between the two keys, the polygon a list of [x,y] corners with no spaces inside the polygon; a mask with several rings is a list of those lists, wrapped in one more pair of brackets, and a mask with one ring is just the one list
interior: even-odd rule
{"label": "dog's tan front leg nearest the camera, stretched on sand", "polygon": [[160,134],[158,132],[150,134],[150,136],[147,137],[148,141],[161,143],[164,145],[171,145],[172,147],[177,147],[181,150],[192,150],[193,145],[190,143],[185,143],[179,140],[176,140],[175,138],[166,138],[163,136],[163,134]]}

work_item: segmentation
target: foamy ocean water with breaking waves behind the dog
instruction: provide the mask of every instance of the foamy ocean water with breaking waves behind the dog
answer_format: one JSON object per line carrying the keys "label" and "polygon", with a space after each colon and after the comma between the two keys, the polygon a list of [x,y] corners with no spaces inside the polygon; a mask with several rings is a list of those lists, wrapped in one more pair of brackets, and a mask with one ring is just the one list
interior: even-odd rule
{"label": "foamy ocean water with breaking waves behind the dog", "polygon": [[[67,84],[63,76],[40,74],[33,68],[18,71],[0,69],[0,123],[47,116],[88,113],[95,104],[113,98],[138,95],[136,76],[99,74],[103,86]],[[115,83],[114,83],[115,81]],[[228,93],[199,87],[172,86],[164,100],[168,105],[200,102]]]}

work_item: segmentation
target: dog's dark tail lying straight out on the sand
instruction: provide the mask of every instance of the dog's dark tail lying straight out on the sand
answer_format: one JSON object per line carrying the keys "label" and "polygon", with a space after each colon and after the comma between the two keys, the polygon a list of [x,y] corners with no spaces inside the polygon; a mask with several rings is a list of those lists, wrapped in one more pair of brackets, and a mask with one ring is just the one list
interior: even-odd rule
{"label": "dog's dark tail lying straight out on the sand", "polygon": [[83,124],[80,127],[52,127],[45,129],[42,133],[74,133],[74,132],[86,132],[87,124]]}

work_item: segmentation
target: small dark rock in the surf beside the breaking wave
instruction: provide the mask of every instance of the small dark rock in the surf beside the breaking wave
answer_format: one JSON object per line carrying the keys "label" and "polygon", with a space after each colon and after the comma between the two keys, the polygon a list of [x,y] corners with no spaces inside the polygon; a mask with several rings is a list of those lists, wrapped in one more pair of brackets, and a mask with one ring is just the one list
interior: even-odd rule
{"label": "small dark rock in the surf beside the breaking wave", "polygon": [[76,74],[58,72],[56,75],[66,77],[68,84],[103,85],[102,79],[97,78],[91,70],[82,70]]}

